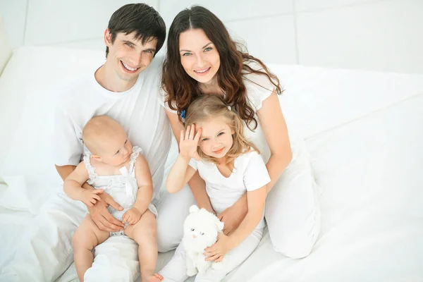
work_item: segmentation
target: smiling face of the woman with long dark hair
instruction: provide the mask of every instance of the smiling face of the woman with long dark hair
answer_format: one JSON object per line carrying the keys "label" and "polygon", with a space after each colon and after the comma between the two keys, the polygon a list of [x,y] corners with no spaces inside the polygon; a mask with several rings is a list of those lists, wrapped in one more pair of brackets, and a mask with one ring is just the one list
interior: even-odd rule
{"label": "smiling face of the woman with long dark hair", "polygon": [[219,52],[201,29],[179,35],[180,63],[191,78],[200,83],[212,82],[220,67]]}

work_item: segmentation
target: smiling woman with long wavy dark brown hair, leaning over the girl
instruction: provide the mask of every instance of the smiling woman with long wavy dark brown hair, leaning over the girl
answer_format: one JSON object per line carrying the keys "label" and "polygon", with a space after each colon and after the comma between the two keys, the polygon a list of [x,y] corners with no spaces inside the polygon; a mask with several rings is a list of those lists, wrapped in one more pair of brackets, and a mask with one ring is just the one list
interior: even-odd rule
{"label": "smiling woman with long wavy dark brown hair, leaning over the girl", "polygon": [[[288,257],[306,257],[320,226],[316,200],[319,192],[314,190],[309,160],[302,157],[307,155],[305,152],[291,151],[278,100],[282,92],[278,78],[262,61],[239,47],[221,20],[207,8],[191,6],[180,11],[168,32],[163,63],[166,114],[178,140],[183,128],[181,118],[192,101],[206,94],[225,99],[243,119],[245,137],[260,150],[271,178],[266,186],[270,195],[265,216],[274,249]],[[281,178],[284,171],[288,173]],[[204,182],[197,173],[189,185],[198,206],[211,210]],[[225,223],[224,233],[230,233],[243,221],[246,199],[244,195],[219,215]]]}

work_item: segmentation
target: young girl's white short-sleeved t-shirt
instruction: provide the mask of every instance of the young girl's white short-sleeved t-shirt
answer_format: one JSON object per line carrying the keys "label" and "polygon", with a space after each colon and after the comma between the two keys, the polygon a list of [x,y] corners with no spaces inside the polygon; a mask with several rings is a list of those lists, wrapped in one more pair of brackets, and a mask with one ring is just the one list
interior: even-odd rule
{"label": "young girl's white short-sleeved t-shirt", "polygon": [[[212,162],[190,160],[190,166],[206,183],[207,195],[214,212],[220,214],[243,197],[245,191],[254,191],[270,182],[270,176],[262,157],[255,151],[240,155],[234,161],[231,176],[222,176]],[[264,227],[264,219],[257,228]]]}

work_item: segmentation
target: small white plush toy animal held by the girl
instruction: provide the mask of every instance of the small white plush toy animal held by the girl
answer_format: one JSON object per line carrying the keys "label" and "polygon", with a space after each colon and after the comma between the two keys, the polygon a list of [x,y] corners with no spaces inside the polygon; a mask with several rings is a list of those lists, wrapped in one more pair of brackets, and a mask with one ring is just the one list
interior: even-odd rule
{"label": "small white plush toy animal held by the girl", "polygon": [[217,233],[222,232],[223,222],[207,209],[199,209],[197,206],[190,207],[190,214],[183,224],[183,247],[185,247],[187,275],[194,276],[204,273],[210,266],[213,269],[221,269],[226,263],[209,262],[204,256],[204,249],[216,243]]}

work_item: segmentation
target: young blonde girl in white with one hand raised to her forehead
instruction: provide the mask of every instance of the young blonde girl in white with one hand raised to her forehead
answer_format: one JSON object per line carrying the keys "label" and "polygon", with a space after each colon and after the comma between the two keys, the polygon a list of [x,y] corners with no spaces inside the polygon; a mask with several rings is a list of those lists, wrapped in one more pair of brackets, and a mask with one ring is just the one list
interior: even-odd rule
{"label": "young blonde girl in white with one hand raised to her forehead", "polygon": [[[256,147],[245,140],[242,120],[221,97],[207,95],[192,102],[185,126],[186,131],[180,131],[180,153],[168,174],[166,189],[178,192],[198,171],[216,214],[231,207],[247,192],[248,212],[240,226],[230,235],[219,234],[217,242],[204,253],[207,260],[216,262],[229,253],[228,264],[219,270],[209,268],[195,278],[195,281],[221,281],[250,256],[262,238],[269,173]],[[184,281],[188,278],[186,271],[181,243],[171,262],[159,273],[164,281]]]}

